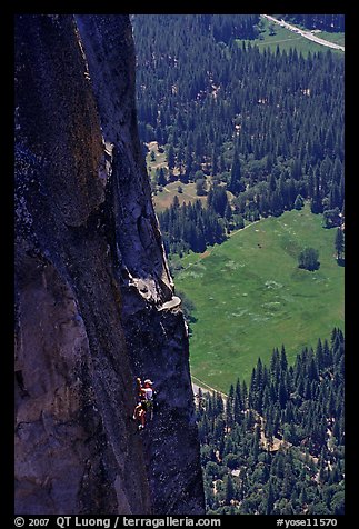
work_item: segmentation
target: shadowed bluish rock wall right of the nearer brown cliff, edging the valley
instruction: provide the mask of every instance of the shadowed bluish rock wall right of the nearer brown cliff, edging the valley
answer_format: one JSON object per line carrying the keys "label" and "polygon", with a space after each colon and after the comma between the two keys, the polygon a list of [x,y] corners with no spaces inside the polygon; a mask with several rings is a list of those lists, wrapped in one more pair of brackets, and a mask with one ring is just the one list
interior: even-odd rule
{"label": "shadowed bluish rock wall right of the nearer brown cliff, edging the valley", "polygon": [[[78,16],[77,22],[104,141],[112,146],[109,200],[113,207],[109,209],[114,212],[126,341],[133,372],[150,377],[159,390],[153,422],[143,436],[153,509],[159,513],[200,512],[203,492],[188,336],[182,312],[177,307],[166,309],[173,286],[140,156],[131,27],[113,16]],[[119,57],[119,49],[127,52]],[[116,69],[102,68],[106,61]]]}

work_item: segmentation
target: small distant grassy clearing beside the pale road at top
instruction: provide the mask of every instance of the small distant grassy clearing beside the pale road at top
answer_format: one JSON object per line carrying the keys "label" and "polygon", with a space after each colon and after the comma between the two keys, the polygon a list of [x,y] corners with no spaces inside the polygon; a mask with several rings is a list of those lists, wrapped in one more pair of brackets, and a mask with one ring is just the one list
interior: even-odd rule
{"label": "small distant grassy clearing beside the pale road at top", "polygon": [[[303,57],[307,57],[309,51],[313,53],[317,51],[326,51],[327,49],[329,49],[313,41],[310,41],[305,37],[295,33],[293,31],[290,31],[286,28],[281,28],[280,26],[272,23],[267,19],[261,19],[261,21],[263,28],[263,32],[260,34],[261,38],[250,41],[246,40],[246,44],[250,43],[251,46],[258,46],[259,50],[265,50],[266,48],[269,48],[271,51],[276,51],[277,46],[281,51],[289,51],[290,48],[296,48],[298,52],[301,51]],[[270,27],[273,27],[275,34],[270,34]],[[341,36],[338,37],[338,41],[333,40],[336,34]],[[329,33],[322,31],[318,33],[318,37],[326,40],[330,40],[331,42],[336,42],[338,44],[341,44],[340,40],[342,40],[343,44],[343,33]],[[238,42],[241,43],[242,41],[238,40]],[[331,49],[331,51],[333,53],[342,53],[342,51],[340,50]]]}

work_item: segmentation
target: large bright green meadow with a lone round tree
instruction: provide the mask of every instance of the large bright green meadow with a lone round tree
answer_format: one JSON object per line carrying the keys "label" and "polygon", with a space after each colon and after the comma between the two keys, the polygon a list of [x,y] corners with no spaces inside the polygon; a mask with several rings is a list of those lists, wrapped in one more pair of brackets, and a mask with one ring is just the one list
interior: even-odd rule
{"label": "large bright green meadow with a lone round tree", "polygon": [[[289,361],[343,326],[343,268],[333,256],[335,230],[306,207],[236,232],[176,277],[196,306],[191,325],[193,376],[228,391],[250,379],[258,357],[268,362],[286,346]],[[303,247],[319,250],[320,268],[298,269]]]}

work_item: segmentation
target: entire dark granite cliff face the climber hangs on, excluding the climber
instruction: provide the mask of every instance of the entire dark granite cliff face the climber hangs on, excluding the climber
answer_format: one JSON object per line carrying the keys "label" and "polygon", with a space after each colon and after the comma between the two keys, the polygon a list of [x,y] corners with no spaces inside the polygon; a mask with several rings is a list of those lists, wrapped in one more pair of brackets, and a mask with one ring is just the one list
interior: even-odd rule
{"label": "entire dark granite cliff face the climber hangs on, excluding the climber", "polygon": [[[16,512],[202,513],[127,16],[16,20]],[[134,377],[159,390],[143,432]]]}

